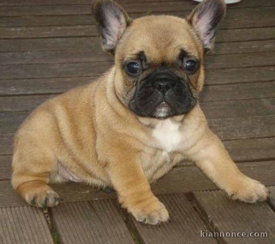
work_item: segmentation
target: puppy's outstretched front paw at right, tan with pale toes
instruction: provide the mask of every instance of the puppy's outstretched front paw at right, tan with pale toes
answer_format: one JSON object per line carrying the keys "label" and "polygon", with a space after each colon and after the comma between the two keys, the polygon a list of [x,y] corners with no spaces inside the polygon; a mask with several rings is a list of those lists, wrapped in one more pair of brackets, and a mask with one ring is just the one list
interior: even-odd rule
{"label": "puppy's outstretched front paw at right, tan with pale toes", "polygon": [[266,200],[268,193],[268,189],[259,181],[245,177],[236,185],[236,189],[229,193],[229,196],[234,200],[255,203]]}

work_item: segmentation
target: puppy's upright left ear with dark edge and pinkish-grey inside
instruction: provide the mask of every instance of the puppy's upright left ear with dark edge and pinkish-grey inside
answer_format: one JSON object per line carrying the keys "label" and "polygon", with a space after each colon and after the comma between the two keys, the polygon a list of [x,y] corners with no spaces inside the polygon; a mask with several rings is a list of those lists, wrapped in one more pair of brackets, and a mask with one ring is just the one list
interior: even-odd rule
{"label": "puppy's upright left ear with dark edge and pinkish-grey inside", "polygon": [[95,1],[92,7],[102,48],[113,55],[115,47],[132,19],[118,4],[111,0]]}

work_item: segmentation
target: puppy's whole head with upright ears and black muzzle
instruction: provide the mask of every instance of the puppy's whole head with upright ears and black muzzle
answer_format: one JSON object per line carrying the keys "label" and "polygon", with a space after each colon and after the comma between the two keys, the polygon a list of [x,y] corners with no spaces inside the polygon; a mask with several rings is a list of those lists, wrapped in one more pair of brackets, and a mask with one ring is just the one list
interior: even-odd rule
{"label": "puppy's whole head with upright ears and black muzzle", "polygon": [[204,82],[204,53],[213,48],[225,15],[223,0],[205,0],[187,19],[146,16],[132,20],[110,0],[96,1],[93,13],[103,50],[115,59],[115,92],[138,116],[185,114]]}

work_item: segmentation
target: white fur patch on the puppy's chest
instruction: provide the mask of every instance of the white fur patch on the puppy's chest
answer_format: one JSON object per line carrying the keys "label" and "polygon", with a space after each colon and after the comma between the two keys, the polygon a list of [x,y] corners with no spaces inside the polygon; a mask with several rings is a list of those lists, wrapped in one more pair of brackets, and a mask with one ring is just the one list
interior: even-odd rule
{"label": "white fur patch on the puppy's chest", "polygon": [[164,151],[177,150],[182,146],[179,124],[174,123],[170,119],[160,121],[152,131],[152,135],[157,140],[158,146]]}

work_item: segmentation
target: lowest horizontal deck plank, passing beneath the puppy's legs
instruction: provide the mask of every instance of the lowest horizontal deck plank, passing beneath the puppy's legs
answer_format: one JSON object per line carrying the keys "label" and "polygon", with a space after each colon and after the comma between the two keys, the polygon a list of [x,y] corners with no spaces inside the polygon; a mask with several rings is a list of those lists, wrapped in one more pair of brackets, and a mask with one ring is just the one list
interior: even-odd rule
{"label": "lowest horizontal deck plank, passing beneath the puppy's legs", "polygon": [[[10,162],[7,162],[8,164]],[[10,167],[10,165],[6,165]],[[275,161],[237,163],[239,169],[248,176],[270,186],[275,182]],[[66,183],[51,185],[62,197],[63,202],[92,199],[116,198],[115,193],[105,193],[85,184]],[[24,206],[27,203],[12,189],[10,180],[0,178],[0,207]],[[182,162],[161,179],[151,185],[157,194],[191,192],[218,189],[193,163]]]}

